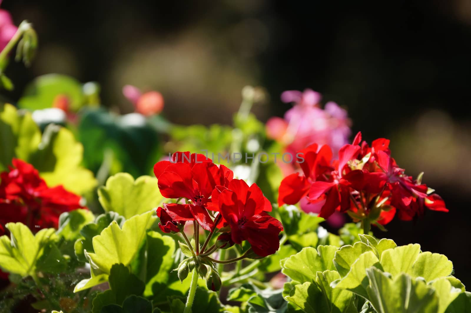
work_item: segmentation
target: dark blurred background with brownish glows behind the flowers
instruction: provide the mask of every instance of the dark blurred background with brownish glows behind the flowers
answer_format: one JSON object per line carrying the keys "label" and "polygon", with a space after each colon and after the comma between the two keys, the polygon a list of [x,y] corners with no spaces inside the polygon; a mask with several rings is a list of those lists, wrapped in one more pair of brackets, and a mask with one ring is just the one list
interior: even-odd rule
{"label": "dark blurred background with brownish glows behind the flowers", "polygon": [[[231,123],[245,85],[264,86],[266,121],[290,106],[287,89],[312,88],[348,108],[353,133],[391,139],[406,172],[447,202],[375,235],[446,254],[471,286],[471,0],[22,1],[5,0],[40,39],[30,69],[7,70],[18,99],[51,72],[97,81],[102,102],[132,111],[125,84],[158,90],[180,124]],[[185,114],[182,114],[185,112]]]}

